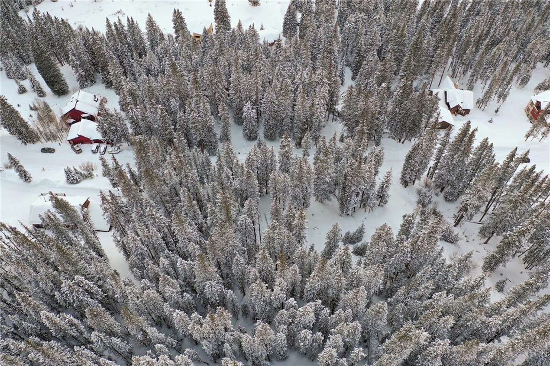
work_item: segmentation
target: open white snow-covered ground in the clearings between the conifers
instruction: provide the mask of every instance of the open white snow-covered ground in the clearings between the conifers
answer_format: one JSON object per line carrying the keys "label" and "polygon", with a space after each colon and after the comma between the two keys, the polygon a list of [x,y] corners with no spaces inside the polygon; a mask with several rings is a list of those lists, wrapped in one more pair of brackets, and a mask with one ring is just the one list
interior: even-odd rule
{"label": "open white snow-covered ground in the clearings between the conifers", "polygon": [[[257,29],[260,23],[265,27],[264,31],[260,31],[261,37],[266,37],[268,40],[278,37],[282,27],[282,19],[288,1],[267,1],[263,0],[260,7],[252,8],[248,1],[227,1],[227,8],[232,18],[232,25],[236,25],[238,20],[243,21],[244,26],[248,26],[254,20]],[[166,32],[172,30],[172,9],[179,8],[182,10],[191,31],[201,31],[203,26],[208,26],[213,21],[213,7],[210,7],[207,0],[201,1],[59,1],[53,3],[45,1],[38,5],[38,8],[43,12],[50,12],[65,19],[68,19],[72,25],[84,25],[95,27],[96,29],[104,30],[105,18],[116,19],[117,16],[133,16],[142,26],[145,25],[147,13],[151,13],[161,29]],[[40,79],[40,75],[36,72],[34,65],[31,65],[32,71]],[[74,79],[72,70],[68,66],[63,66],[62,71],[67,78],[69,86],[76,90],[78,84]],[[346,75],[346,85],[349,85],[349,73]],[[489,104],[484,111],[475,108],[466,117],[455,118],[454,131],[458,130],[461,123],[466,120],[472,121],[472,126],[477,127],[477,141],[488,136],[489,140],[494,144],[494,151],[497,159],[502,160],[506,154],[515,146],[518,146],[518,151],[521,153],[527,149],[530,150],[530,164],[536,164],[538,169],[550,171],[550,145],[549,140],[538,142],[524,141],[524,135],[529,129],[529,121],[524,114],[524,107],[529,101],[530,96],[534,93],[535,86],[544,78],[550,76],[550,69],[542,68],[541,65],[533,73],[533,77],[529,84],[522,89],[512,87],[510,95],[505,103],[500,107],[497,115],[494,114],[496,104]],[[461,84],[461,80],[458,80]],[[465,81],[463,81],[465,83]],[[29,104],[35,99],[35,94],[30,91],[28,81],[23,84],[27,86],[29,92],[23,95],[17,95],[17,86],[13,80],[7,79],[4,71],[0,75],[0,93],[8,98],[8,101],[19,110],[25,118],[32,119],[32,113],[29,110]],[[43,84],[43,82],[42,82]],[[45,86],[45,84],[43,84]],[[342,91],[345,90],[345,86]],[[86,91],[99,93],[106,96],[108,99],[108,107],[118,107],[118,97],[112,90],[108,90],[102,84],[96,84],[85,89]],[[51,104],[54,112],[61,114],[61,108],[67,103],[70,98],[67,96],[56,97],[50,91],[47,92],[45,101]],[[481,95],[481,86],[474,89],[474,98]],[[493,119],[493,123],[488,123],[489,119]],[[235,151],[238,153],[239,159],[244,160],[246,153],[254,142],[245,141],[241,135],[241,126],[233,125],[232,138]],[[324,135],[332,136],[334,132],[339,132],[341,125],[338,122],[329,122]],[[260,136],[262,131],[260,131]],[[268,143],[270,146],[278,147],[278,142]],[[324,237],[331,225],[338,221],[342,226],[343,231],[354,230],[361,223],[365,223],[365,239],[368,240],[375,228],[383,223],[387,223],[394,231],[397,231],[401,222],[401,217],[405,213],[411,212],[415,207],[416,187],[409,186],[403,188],[399,185],[398,177],[403,164],[404,156],[408,152],[410,142],[403,144],[397,143],[389,138],[384,138],[382,146],[384,147],[386,156],[381,168],[381,172],[392,169],[394,173],[394,184],[390,188],[390,200],[384,207],[376,207],[371,213],[364,213],[362,210],[356,212],[354,216],[345,217],[339,214],[337,202],[318,203],[312,200],[311,207],[307,213],[309,231],[307,240],[313,243],[317,249],[322,249]],[[51,146],[56,148],[54,154],[40,153],[40,148],[43,146]],[[117,155],[117,159],[122,164],[133,161],[131,147],[123,147],[124,151]],[[101,167],[98,164],[98,154],[92,154],[89,146],[83,146],[82,154],[75,154],[68,144],[59,146],[57,143],[36,144],[23,146],[9,136],[5,130],[0,131],[0,160],[4,164],[7,161],[7,153],[12,153],[15,157],[21,160],[24,167],[30,171],[32,182],[25,184],[19,180],[13,170],[5,170],[0,173],[0,220],[11,225],[19,225],[19,221],[26,224],[29,215],[29,206],[40,193],[48,191],[66,193],[67,195],[86,195],[94,199],[97,197],[100,190],[111,189],[109,182],[101,175]],[[301,154],[301,151],[296,151]],[[67,166],[78,166],[83,162],[94,162],[98,165],[97,176],[94,179],[85,180],[78,185],[69,185],[65,182],[63,168]],[[439,208],[444,215],[450,220],[455,212],[456,203],[444,202],[442,198],[437,197]],[[269,199],[263,197],[261,200],[261,208],[266,212],[267,220],[269,219]],[[262,222],[262,229],[267,227],[265,221]],[[457,254],[474,251],[474,259],[479,264],[475,271],[480,271],[482,258],[488,251],[494,249],[499,238],[493,237],[488,245],[483,245],[483,240],[477,236],[478,225],[474,223],[464,223],[463,226],[457,228],[461,234],[461,239],[456,245],[442,242],[445,256],[448,258]],[[129,276],[128,266],[116,247],[113,245],[111,235],[109,233],[99,234],[103,247],[105,248],[111,263],[122,275]],[[524,280],[527,276],[519,260],[515,259],[510,262],[506,268],[498,269],[489,279],[488,285],[493,285],[494,282],[507,277],[514,283]],[[493,292],[493,297],[502,296],[497,292]]]}

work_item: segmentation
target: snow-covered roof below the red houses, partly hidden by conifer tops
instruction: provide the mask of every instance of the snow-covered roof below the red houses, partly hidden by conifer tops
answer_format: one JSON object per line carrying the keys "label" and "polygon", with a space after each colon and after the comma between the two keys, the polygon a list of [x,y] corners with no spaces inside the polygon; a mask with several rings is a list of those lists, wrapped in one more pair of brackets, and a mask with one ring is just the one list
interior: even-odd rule
{"label": "snow-covered roof below the red houses, partly hidden by conifer tops", "polygon": [[[79,212],[82,210],[83,204],[90,200],[87,212],[90,215],[90,220],[94,229],[98,231],[109,231],[111,226],[107,223],[105,218],[103,218],[103,211],[96,201],[89,199],[86,196],[58,196],[58,198],[64,199],[71,206],[76,208]],[[29,224],[38,225],[41,223],[40,216],[46,214],[50,210],[54,212],[52,202],[50,201],[49,196],[40,196],[36,199],[35,202],[31,204],[29,212]]]}

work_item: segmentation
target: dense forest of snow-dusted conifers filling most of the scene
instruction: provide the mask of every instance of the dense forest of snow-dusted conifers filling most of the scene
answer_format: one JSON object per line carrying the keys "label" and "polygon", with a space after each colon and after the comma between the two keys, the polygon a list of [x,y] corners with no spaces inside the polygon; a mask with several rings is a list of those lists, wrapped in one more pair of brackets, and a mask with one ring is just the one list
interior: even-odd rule
{"label": "dense forest of snow-dusted conifers filling most of the scene", "polygon": [[[62,96],[68,64],[81,88],[119,97],[98,130],[135,161],[100,157],[112,185],[101,208],[135,280],[63,197],[51,195],[46,229],[0,223],[0,364],[550,364],[550,179],[529,151],[497,159],[470,121],[439,130],[430,92],[450,75],[483,85],[477,108],[504,102],[550,65],[550,2],[292,0],[272,43],[259,24],[232,27],[225,0],[200,41],[178,9],[170,34],[151,15],[103,32],[27,3],[0,0],[3,72],[42,97],[34,63]],[[3,96],[0,107],[10,135],[40,140]],[[547,113],[525,138],[548,135]],[[334,120],[342,132],[327,135]],[[381,168],[382,138],[411,142],[400,171]],[[243,140],[256,141],[244,157]],[[311,202],[368,220],[392,185],[417,195],[399,226],[367,237],[335,222],[321,251],[306,241]],[[472,253],[449,260],[440,246],[471,220],[499,241],[475,276]],[[518,256],[529,278],[494,300],[486,276]]]}

